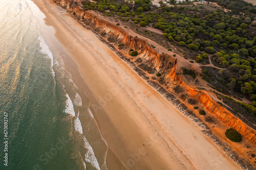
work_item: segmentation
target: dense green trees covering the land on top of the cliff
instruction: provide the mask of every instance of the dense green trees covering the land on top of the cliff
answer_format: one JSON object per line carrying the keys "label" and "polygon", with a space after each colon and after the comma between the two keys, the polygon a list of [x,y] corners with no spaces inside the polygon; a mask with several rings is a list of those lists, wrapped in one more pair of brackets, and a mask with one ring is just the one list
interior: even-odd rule
{"label": "dense green trees covering the land on top of the cliff", "polygon": [[[245,96],[252,101],[246,107],[255,109],[256,31],[251,26],[256,23],[256,8],[242,0],[212,2],[231,11],[224,12],[211,4],[168,7],[162,3],[156,10],[150,0],[99,0],[97,3],[83,1],[82,4],[85,10],[97,10],[106,16],[119,17],[123,22],[161,30],[166,41],[198,53],[197,63],[209,64],[210,59],[220,69],[203,68],[203,80],[227,95],[231,91]],[[187,74],[186,71],[183,74]],[[188,75],[196,76],[193,72]]]}

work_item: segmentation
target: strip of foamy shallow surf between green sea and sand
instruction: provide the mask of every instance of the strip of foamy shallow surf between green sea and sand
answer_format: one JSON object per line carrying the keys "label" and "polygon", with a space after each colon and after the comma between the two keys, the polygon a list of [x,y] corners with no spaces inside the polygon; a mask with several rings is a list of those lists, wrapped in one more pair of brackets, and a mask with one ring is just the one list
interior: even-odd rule
{"label": "strip of foamy shallow surf between green sea and sand", "polygon": [[[97,123],[95,122],[95,119],[93,118],[93,115],[91,114],[91,111],[89,109],[90,103],[88,102],[88,96],[84,92],[77,89],[76,85],[71,79],[72,77],[70,72],[67,69],[64,69],[65,65],[63,64],[62,56],[67,56],[68,54],[65,48],[63,48],[63,46],[61,46],[58,43],[57,39],[54,37],[55,29],[52,26],[46,24],[46,20],[44,19],[45,15],[42,14],[39,9],[37,9],[38,6],[36,5],[36,3],[32,1],[31,5],[32,6],[30,6],[30,8],[32,11],[35,10],[35,16],[38,19],[38,28],[40,31],[40,35],[44,37],[44,41],[47,42],[47,45],[51,48],[49,50],[51,50],[51,53],[54,56],[54,58],[52,59],[52,68],[54,71],[53,74],[57,79],[55,79],[55,81],[58,81],[61,85],[63,85],[63,90],[65,90],[66,92],[66,97],[69,98],[66,101],[66,107],[68,106],[74,109],[73,112],[72,109],[67,112],[67,114],[71,115],[70,120],[73,124],[73,131],[70,132],[70,135],[72,135],[74,145],[77,147],[74,147],[75,150],[73,150],[74,152],[71,159],[74,159],[76,161],[79,169],[83,169],[83,164],[85,164],[84,162],[86,162],[86,166],[89,168],[96,168],[97,163],[99,163],[101,169],[106,169],[105,159],[106,153],[108,152],[108,147],[102,135],[100,134]],[[72,99],[72,101],[70,98]],[[80,101],[81,99],[82,101]],[[83,119],[83,123],[86,124],[86,126],[79,127],[80,119]],[[88,126],[90,126],[90,130],[88,130]],[[77,133],[80,128],[82,128],[81,131],[83,133],[81,133],[81,131]],[[84,136],[86,136],[85,139]],[[91,139],[91,136],[93,136],[93,139]],[[78,149],[78,147],[80,147],[80,149]],[[91,150],[92,148],[93,151]],[[85,157],[83,153],[86,154]],[[90,154],[92,155],[90,159],[88,159],[87,155]],[[98,162],[94,161],[95,156],[97,157]]]}

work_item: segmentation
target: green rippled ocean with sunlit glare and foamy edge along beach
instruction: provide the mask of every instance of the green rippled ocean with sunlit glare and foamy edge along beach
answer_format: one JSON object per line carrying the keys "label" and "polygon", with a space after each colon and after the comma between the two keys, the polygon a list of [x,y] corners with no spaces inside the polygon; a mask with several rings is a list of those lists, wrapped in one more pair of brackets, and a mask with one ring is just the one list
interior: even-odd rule
{"label": "green rippled ocean with sunlit glare and foamy edge along beach", "polygon": [[90,100],[42,34],[53,37],[53,28],[29,0],[0,2],[0,169],[106,169]]}

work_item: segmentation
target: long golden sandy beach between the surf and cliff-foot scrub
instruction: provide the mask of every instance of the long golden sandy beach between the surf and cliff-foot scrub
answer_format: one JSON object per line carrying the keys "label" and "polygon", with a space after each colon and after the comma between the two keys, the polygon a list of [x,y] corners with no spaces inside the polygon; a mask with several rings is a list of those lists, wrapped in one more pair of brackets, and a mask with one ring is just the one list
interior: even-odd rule
{"label": "long golden sandy beach between the surf and cliff-foot scrub", "polygon": [[[200,127],[91,31],[48,0],[34,3],[66,49],[67,54],[60,56],[66,69],[90,99],[90,109],[108,144],[109,169],[239,169]],[[82,116],[80,120],[83,124]]]}

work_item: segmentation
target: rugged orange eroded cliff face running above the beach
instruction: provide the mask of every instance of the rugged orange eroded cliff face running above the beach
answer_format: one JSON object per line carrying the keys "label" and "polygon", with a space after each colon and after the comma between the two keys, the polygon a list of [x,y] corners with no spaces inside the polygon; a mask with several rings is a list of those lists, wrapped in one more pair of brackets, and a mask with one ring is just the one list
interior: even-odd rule
{"label": "rugged orange eroded cliff face running above the beach", "polygon": [[[244,138],[256,143],[256,131],[254,129],[248,127],[242,120],[232,115],[228,110],[212,100],[206,92],[187,85],[182,78],[176,74],[177,59],[174,59],[169,55],[159,55],[153,48],[147,45],[145,40],[129,36],[125,31],[112,23],[84,11],[79,6],[72,6],[73,1],[71,0],[57,0],[57,2],[69,9],[70,12],[75,12],[77,17],[84,17],[91,26],[99,29],[99,32],[105,32],[109,37],[112,37],[112,40],[120,44],[123,43],[124,48],[129,50],[133,48],[138,51],[139,57],[148,65],[153,65],[158,70],[166,70],[168,72],[166,80],[170,80],[184,87],[190,96],[204,105],[205,109],[207,109],[213,116],[217,117],[221,123],[237,130]],[[172,62],[172,64],[169,64],[169,62]]]}

